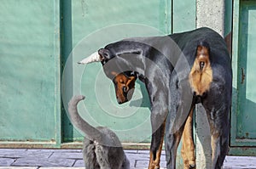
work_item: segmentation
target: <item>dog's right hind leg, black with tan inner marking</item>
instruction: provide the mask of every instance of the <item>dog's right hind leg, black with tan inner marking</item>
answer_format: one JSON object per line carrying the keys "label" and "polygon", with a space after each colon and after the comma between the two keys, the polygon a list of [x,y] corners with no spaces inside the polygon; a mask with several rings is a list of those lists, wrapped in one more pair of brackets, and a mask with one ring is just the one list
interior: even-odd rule
{"label": "dog's right hind leg, black with tan inner marking", "polygon": [[212,90],[207,94],[202,104],[207,112],[211,130],[212,169],[221,168],[229,149],[230,136],[230,91],[212,84]]}

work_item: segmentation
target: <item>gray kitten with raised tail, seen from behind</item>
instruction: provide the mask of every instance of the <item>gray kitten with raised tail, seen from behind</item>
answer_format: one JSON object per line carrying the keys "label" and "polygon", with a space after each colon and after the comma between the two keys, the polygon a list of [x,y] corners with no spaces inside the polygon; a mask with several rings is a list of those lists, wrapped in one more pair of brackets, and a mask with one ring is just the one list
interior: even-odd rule
{"label": "gray kitten with raised tail, seen from behind", "polygon": [[84,163],[86,169],[129,169],[124,149],[117,135],[107,127],[92,127],[79,115],[77,105],[84,96],[73,96],[68,112],[75,127],[84,132]]}

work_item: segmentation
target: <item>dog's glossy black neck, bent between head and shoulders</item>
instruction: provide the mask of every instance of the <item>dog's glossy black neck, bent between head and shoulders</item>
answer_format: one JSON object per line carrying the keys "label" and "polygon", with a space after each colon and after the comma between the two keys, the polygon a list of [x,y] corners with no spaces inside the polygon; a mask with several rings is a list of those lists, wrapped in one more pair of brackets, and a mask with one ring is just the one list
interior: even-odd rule
{"label": "dog's glossy black neck, bent between head and shoulders", "polygon": [[[172,48],[170,48],[170,42],[160,46],[159,38],[127,39],[109,44],[105,48],[115,54],[115,56],[108,60],[105,70],[111,70],[111,68],[115,67],[119,72],[126,70],[135,71],[138,78],[143,82],[145,79],[153,80],[152,78],[170,76],[172,71],[170,69],[172,66],[170,65],[173,63],[173,60],[170,60]],[[158,71],[158,76],[152,76],[153,71]]]}

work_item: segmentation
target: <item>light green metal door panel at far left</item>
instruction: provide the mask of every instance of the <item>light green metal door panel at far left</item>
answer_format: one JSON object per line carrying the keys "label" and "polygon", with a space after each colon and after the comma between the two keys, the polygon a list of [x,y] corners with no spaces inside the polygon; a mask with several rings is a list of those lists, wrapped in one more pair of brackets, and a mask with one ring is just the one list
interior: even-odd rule
{"label": "light green metal door panel at far left", "polygon": [[60,144],[59,11],[58,0],[1,1],[1,147]]}

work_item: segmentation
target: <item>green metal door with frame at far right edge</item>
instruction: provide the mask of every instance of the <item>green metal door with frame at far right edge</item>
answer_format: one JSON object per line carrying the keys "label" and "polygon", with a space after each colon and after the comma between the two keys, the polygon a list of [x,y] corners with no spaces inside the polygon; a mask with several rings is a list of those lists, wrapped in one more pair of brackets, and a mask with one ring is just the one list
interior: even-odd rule
{"label": "green metal door with frame at far right edge", "polygon": [[256,2],[236,1],[234,19],[230,154],[256,155]]}

